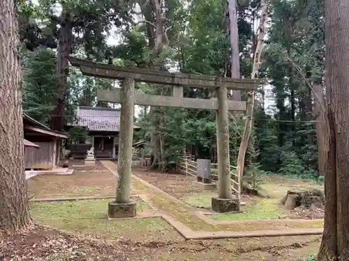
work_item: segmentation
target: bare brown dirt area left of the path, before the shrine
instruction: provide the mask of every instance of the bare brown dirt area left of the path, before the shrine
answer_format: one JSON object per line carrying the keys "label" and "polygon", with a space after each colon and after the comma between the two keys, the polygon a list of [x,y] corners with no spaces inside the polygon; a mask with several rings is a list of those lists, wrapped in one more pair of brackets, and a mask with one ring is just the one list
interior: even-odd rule
{"label": "bare brown dirt area left of the path, before the shrine", "polygon": [[[80,165],[70,161],[70,167]],[[27,180],[29,198],[113,196],[117,178],[100,162],[96,166],[74,167],[72,175],[38,175]]]}

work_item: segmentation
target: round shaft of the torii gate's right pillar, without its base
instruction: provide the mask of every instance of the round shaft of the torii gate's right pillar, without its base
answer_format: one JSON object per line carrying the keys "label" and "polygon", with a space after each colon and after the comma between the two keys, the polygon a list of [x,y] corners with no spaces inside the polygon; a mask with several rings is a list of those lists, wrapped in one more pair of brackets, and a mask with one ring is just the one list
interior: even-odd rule
{"label": "round shaft of the torii gate's right pillar, without its base", "polygon": [[217,154],[218,154],[218,198],[232,198],[230,187],[230,156],[229,156],[229,125],[228,125],[228,90],[225,87],[217,89],[218,110]]}

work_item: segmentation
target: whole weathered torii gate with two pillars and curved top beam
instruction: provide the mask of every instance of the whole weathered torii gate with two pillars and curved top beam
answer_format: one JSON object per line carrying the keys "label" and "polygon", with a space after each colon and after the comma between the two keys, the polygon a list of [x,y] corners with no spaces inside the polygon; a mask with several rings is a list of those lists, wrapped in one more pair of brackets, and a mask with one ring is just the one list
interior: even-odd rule
{"label": "whole weathered torii gate with two pillars and curved top beam", "polygon": [[[107,79],[121,79],[121,89],[97,90],[97,98],[103,102],[121,104],[117,195],[108,205],[111,218],[136,215],[136,203],[131,200],[131,157],[133,145],[134,106],[167,106],[186,109],[211,109],[216,111],[218,154],[218,197],[211,200],[216,212],[239,210],[239,198],[233,198],[230,187],[229,122],[228,111],[245,111],[246,102],[228,100],[228,89],[253,90],[258,79],[232,79],[201,74],[171,73],[158,70],[127,68],[104,63],[94,63],[69,58],[73,66],[84,75]],[[172,86],[172,96],[146,95],[135,92],[135,81]],[[183,86],[216,89],[217,99],[183,97]]]}

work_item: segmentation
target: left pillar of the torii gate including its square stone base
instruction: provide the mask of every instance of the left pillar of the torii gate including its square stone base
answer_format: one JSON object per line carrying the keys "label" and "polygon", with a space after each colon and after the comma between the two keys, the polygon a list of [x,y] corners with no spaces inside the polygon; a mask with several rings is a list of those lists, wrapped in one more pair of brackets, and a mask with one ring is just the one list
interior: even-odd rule
{"label": "left pillar of the torii gate including its square stone base", "polygon": [[119,158],[117,196],[109,203],[111,218],[124,218],[136,215],[136,203],[131,200],[131,163],[133,145],[133,115],[135,111],[135,81],[124,79],[122,83],[122,103],[119,134]]}

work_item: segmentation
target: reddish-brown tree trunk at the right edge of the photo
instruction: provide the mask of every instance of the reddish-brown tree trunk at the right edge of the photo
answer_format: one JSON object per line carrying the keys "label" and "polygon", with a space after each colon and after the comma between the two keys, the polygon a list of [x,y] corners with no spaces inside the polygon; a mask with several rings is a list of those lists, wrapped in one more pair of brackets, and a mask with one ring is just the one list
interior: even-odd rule
{"label": "reddish-brown tree trunk at the right edge of the photo", "polygon": [[318,260],[349,260],[349,2],[325,1],[327,161],[325,227]]}

